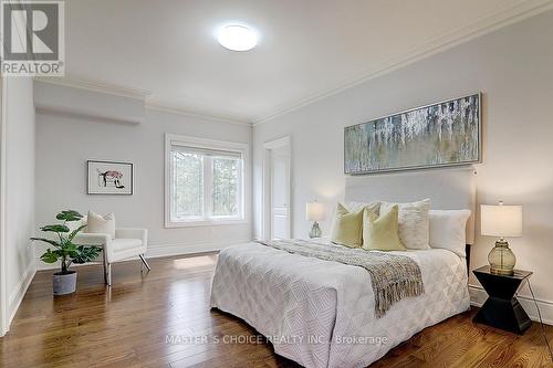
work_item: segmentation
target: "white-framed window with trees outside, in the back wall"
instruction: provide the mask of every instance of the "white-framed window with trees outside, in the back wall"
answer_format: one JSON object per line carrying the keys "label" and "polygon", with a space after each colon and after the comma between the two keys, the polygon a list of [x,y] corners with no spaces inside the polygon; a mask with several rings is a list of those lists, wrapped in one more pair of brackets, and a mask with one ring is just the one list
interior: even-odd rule
{"label": "white-framed window with trees outside, in the back wall", "polygon": [[248,146],[167,135],[166,227],[244,221]]}

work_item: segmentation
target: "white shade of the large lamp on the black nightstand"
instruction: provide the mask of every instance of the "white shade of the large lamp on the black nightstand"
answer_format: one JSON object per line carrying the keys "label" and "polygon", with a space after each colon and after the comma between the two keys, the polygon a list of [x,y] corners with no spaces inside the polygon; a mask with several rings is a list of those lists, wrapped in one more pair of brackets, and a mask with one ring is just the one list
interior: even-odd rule
{"label": "white shade of the large lamp on the black nightstand", "polygon": [[482,235],[522,236],[522,206],[482,204],[480,207]]}

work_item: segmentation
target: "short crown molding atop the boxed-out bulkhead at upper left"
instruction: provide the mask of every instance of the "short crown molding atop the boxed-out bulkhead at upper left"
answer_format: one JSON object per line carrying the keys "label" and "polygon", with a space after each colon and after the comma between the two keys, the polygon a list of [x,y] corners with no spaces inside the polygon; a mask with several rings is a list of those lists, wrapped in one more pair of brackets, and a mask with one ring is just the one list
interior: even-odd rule
{"label": "short crown molding atop the boxed-out bulkhead at upper left", "polygon": [[106,93],[119,97],[128,97],[145,101],[152,92],[140,88],[128,87],[124,85],[111,84],[100,81],[87,81],[71,77],[55,77],[55,76],[36,76],[35,81],[61,85],[72,88],[81,88],[92,92]]}

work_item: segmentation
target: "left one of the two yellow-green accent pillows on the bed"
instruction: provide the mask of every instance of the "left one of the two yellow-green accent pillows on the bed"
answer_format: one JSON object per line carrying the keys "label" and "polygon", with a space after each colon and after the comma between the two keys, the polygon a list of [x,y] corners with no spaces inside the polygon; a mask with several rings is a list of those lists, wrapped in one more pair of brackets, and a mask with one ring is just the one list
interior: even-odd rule
{"label": "left one of the two yellow-green accent pillows on the bed", "polygon": [[349,212],[338,203],[334,213],[331,241],[349,248],[363,245],[363,211]]}

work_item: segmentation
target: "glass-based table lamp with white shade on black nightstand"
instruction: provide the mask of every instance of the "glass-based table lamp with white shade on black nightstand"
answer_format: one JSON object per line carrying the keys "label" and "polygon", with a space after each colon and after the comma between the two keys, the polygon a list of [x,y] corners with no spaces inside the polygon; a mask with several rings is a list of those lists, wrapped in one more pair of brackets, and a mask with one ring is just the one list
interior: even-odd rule
{"label": "glass-based table lamp with white shade on black nightstand", "polygon": [[495,246],[488,254],[490,272],[500,275],[512,275],[517,257],[509,249],[505,238],[522,236],[522,206],[481,204],[482,235],[499,236]]}

